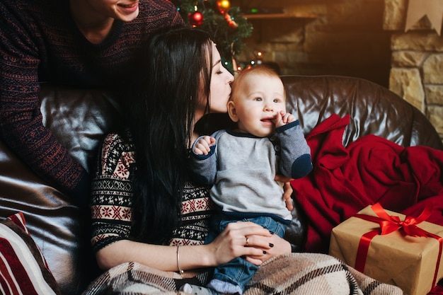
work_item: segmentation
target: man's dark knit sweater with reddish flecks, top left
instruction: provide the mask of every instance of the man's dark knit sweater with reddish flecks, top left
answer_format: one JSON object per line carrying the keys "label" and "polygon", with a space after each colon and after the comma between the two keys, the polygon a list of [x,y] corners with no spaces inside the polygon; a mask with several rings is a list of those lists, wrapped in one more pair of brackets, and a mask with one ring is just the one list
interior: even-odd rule
{"label": "man's dark knit sweater with reddish flecks, top left", "polygon": [[183,20],[170,1],[140,0],[134,21],[115,21],[107,39],[93,45],[76,28],[69,0],[1,0],[0,16],[0,139],[40,177],[83,203],[88,173],[42,125],[39,83],[118,85],[142,39]]}

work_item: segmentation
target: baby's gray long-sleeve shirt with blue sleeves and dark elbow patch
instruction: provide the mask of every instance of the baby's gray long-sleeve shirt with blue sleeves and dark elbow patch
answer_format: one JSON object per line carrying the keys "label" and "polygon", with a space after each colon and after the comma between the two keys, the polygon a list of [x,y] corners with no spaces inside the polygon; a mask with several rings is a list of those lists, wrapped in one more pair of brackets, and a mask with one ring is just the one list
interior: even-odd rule
{"label": "baby's gray long-sleeve shirt with blue sleeves and dark elbow patch", "polygon": [[220,130],[207,155],[192,153],[197,181],[212,185],[212,200],[224,212],[260,213],[291,220],[276,174],[301,178],[312,170],[309,146],[299,121],[277,128],[272,137]]}

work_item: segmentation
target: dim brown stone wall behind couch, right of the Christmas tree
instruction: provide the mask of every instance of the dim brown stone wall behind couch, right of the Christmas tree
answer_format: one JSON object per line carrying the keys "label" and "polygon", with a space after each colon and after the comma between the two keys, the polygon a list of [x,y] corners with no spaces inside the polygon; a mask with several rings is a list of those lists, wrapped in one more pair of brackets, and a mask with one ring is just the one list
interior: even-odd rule
{"label": "dim brown stone wall behind couch, right of the Christmas tree", "polygon": [[356,76],[389,86],[391,33],[384,0],[231,0],[232,6],[281,8],[287,17],[251,18],[241,59],[263,52],[281,74]]}

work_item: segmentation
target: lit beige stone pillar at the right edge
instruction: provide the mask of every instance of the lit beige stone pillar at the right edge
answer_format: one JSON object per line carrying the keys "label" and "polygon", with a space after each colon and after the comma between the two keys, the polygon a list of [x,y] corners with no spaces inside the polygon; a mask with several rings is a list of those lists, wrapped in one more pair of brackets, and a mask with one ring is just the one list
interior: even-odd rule
{"label": "lit beige stone pillar at the right edge", "polygon": [[385,0],[391,32],[389,88],[421,110],[443,139],[443,37],[427,18],[405,32],[407,0]]}

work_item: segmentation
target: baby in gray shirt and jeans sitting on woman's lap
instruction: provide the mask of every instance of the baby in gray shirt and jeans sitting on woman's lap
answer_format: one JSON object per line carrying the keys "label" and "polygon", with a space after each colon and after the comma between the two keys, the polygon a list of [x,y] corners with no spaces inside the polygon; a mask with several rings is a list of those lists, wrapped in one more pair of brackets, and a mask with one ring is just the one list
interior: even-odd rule
{"label": "baby in gray shirt and jeans sitting on woman's lap", "polygon": [[[312,163],[299,121],[286,112],[280,76],[263,65],[241,71],[227,106],[236,128],[200,137],[190,157],[195,180],[212,185],[217,211],[206,243],[236,221],[252,221],[282,237],[292,215],[275,175],[302,178]],[[245,241],[248,246],[248,237]],[[243,258],[219,265],[207,294],[242,294],[256,270],[257,265]]]}

